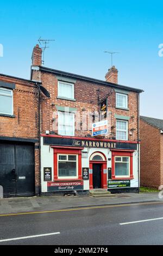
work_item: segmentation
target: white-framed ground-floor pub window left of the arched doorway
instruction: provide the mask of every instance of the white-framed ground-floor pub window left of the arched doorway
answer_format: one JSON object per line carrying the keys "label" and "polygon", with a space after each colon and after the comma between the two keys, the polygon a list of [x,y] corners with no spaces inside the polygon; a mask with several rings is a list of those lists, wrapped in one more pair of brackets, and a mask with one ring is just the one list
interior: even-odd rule
{"label": "white-framed ground-floor pub window left of the arched doorway", "polygon": [[78,178],[78,155],[58,155],[58,178]]}

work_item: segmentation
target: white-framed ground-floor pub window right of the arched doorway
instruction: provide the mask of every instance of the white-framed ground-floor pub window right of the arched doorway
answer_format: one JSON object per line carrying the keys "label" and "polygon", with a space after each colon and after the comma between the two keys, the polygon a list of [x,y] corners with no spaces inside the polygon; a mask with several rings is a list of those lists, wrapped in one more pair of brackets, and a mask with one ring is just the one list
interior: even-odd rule
{"label": "white-framed ground-floor pub window right of the arched doorway", "polygon": [[130,157],[115,156],[115,176],[129,177],[130,176]]}

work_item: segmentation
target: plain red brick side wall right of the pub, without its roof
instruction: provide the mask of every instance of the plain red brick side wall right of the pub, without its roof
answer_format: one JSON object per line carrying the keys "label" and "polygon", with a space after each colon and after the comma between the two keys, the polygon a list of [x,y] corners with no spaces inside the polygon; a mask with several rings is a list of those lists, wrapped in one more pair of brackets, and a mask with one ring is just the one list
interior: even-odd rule
{"label": "plain red brick side wall right of the pub, without its roof", "polygon": [[160,130],[140,120],[140,139],[140,184],[158,188],[161,185]]}

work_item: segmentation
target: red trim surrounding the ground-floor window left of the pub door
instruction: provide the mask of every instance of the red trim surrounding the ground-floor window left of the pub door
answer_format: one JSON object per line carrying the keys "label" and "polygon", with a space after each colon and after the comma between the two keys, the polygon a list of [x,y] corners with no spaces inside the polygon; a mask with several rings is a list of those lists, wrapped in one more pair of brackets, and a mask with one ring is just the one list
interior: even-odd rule
{"label": "red trim surrounding the ground-floor window left of the pub door", "polygon": [[[70,147],[69,147],[70,148]],[[82,149],[67,149],[54,147],[54,181],[82,180]],[[78,178],[77,179],[58,179],[58,154],[78,155]]]}

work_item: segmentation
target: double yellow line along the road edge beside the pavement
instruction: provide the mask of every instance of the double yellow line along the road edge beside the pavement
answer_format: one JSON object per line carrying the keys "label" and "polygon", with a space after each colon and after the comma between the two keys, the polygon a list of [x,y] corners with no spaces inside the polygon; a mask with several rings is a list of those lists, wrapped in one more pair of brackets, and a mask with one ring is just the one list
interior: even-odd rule
{"label": "double yellow line along the road edge beside the pavement", "polygon": [[17,212],[16,214],[1,214],[0,217],[29,215],[29,214],[49,214],[52,212],[68,212],[68,211],[79,211],[79,210],[90,210],[90,209],[106,209],[106,208],[125,207],[125,206],[134,206],[134,205],[148,205],[148,204],[163,204],[163,202],[146,202],[146,203],[88,206],[88,207],[81,207],[81,208],[51,210],[51,211]]}

